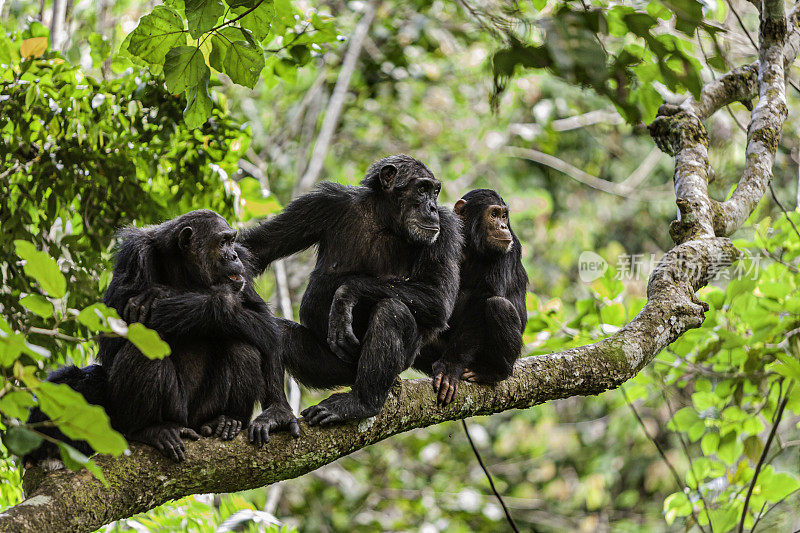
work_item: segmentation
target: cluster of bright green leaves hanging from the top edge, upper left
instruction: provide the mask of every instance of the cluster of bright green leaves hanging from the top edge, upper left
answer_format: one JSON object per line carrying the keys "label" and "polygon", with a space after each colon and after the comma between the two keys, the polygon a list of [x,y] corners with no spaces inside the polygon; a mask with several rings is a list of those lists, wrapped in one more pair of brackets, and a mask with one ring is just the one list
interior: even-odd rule
{"label": "cluster of bright green leaves hanging from the top edge, upper left", "polygon": [[142,17],[121,52],[144,61],[153,72],[163,70],[167,88],[186,95],[184,117],[190,128],[211,116],[211,69],[252,89],[262,76],[281,78],[292,72],[285,63],[301,66],[309,50],[319,53],[321,45],[336,38],[330,21],[316,14],[303,21],[287,0],[167,4]]}

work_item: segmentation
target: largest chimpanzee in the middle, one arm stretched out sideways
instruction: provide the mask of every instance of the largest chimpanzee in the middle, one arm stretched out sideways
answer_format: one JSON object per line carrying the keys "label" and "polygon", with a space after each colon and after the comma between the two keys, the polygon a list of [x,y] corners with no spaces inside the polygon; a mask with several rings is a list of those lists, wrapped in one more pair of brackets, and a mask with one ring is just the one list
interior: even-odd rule
{"label": "largest chimpanzee in the middle, one arm stretched out sideways", "polygon": [[440,188],[420,161],[394,155],[370,166],[360,187],[322,183],[240,234],[259,270],[318,245],[302,325],[281,322],[281,359],[307,386],[352,391],[303,411],[309,424],[375,415],[419,347],[446,326],[461,232],[436,204]]}

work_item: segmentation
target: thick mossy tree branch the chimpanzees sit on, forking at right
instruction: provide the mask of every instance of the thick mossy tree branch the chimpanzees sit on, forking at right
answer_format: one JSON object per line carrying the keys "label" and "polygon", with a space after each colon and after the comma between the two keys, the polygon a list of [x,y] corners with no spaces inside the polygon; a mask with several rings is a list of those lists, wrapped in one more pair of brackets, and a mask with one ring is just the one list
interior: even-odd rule
{"label": "thick mossy tree branch the chimpanzees sit on, forking at right", "polygon": [[[129,456],[99,457],[109,482],[86,471],[26,473],[28,498],[0,514],[0,531],[91,531],[174,498],[261,487],[301,476],[355,450],[414,428],[446,420],[526,408],[549,400],[598,394],[635,376],[668,344],[702,324],[706,306],[695,292],[738,255],[725,237],[735,231],[764,193],[777,139],[786,117],[784,62],[798,50],[797,8],[788,32],[781,0],[762,8],[759,62],[708,84],[697,102],[665,108],[651,126],[656,143],[675,155],[680,218],[671,233],[677,246],[650,277],[644,309],[624,328],[597,343],[517,362],[514,376],[494,387],[465,383],[446,408],[436,405],[430,380],[398,383],[378,416],[332,428],[302,426],[299,439],[275,435],[263,449],[243,435],[230,442],[187,443],[187,459],[174,463],[145,446]],[[755,70],[754,70],[755,69]],[[757,76],[755,75],[757,72]],[[752,98],[748,164],[731,203],[708,196],[712,175],[702,121],[727,103]],[[761,132],[761,133],[759,133]],[[734,201],[735,199],[735,201]]]}

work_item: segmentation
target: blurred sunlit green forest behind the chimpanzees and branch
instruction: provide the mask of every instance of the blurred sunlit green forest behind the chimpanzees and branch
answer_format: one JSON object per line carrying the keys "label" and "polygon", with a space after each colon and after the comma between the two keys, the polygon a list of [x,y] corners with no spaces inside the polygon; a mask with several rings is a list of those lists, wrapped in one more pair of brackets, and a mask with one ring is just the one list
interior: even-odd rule
{"label": "blurred sunlit green forest behind the chimpanzees and branch", "polygon": [[[526,354],[585,344],[636,314],[651,257],[672,245],[673,164],[645,124],[663,101],[754,61],[758,35],[758,13],[742,0],[276,0],[269,31],[256,35],[266,43],[261,79],[233,83],[235,74],[214,69],[206,102],[200,91],[187,101],[176,95],[183,88],[168,90],[158,68],[126,50],[154,4],[0,0],[0,510],[21,500],[17,455],[30,435],[20,421],[35,380],[89,362],[96,347],[86,339],[111,327],[78,311],[108,284],[120,226],[202,207],[245,223],[319,179],[355,184],[370,162],[405,152],[442,180],[442,203],[489,187],[511,206],[530,277]],[[166,4],[183,13],[182,1]],[[581,18],[598,12],[600,23]],[[642,33],[631,13],[657,25]],[[545,43],[551,63],[511,54],[519,68],[502,71],[495,54],[521,46],[511,31]],[[661,68],[653,35],[674,47],[664,64],[677,61],[679,76]],[[638,92],[626,107],[596,78],[606,83],[603,66],[637,49]],[[800,79],[796,69],[790,76]],[[800,92],[787,87],[787,98],[773,191],[735,236],[748,259],[701,292],[711,305],[704,326],[620,390],[468,422],[524,529],[727,531],[751,486],[747,528],[800,527],[800,234],[787,222],[800,222]],[[718,199],[743,166],[748,121],[735,103],[707,124]],[[49,288],[28,268],[51,265],[39,250],[64,275]],[[581,278],[583,252],[607,262],[598,279]],[[277,314],[296,313],[311,260],[300,254],[259,280]],[[321,397],[303,390],[301,405]],[[225,520],[252,531],[503,530],[459,426],[415,430],[276,487],[185,498],[104,530],[214,531]],[[283,526],[270,526],[273,517]]]}

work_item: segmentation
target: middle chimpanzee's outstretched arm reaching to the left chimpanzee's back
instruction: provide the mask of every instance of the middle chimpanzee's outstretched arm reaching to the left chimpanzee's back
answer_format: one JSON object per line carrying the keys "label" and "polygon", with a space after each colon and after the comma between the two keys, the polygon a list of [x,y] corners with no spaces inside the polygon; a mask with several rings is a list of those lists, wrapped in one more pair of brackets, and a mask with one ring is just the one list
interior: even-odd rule
{"label": "middle chimpanzee's outstretched arm reaching to the left chimpanzee's back", "polygon": [[319,242],[352,200],[352,193],[345,186],[320,183],[293,200],[278,216],[242,230],[237,239],[253,254],[256,271],[263,272],[276,259]]}

